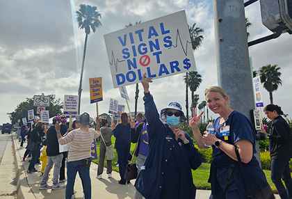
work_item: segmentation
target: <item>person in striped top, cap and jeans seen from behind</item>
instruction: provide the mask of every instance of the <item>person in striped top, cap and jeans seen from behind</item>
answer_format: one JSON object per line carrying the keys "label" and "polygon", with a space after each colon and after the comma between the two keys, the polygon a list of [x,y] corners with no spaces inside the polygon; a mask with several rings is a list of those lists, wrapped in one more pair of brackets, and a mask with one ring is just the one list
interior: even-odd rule
{"label": "person in striped top, cap and jeans seen from behind", "polygon": [[[74,193],[74,182],[76,173],[81,177],[83,193],[85,198],[91,198],[90,164],[91,150],[90,145],[95,138],[100,136],[100,132],[90,128],[93,119],[88,113],[82,113],[76,117],[80,127],[67,133],[64,137],[60,134],[60,125],[56,123],[56,131],[60,145],[70,143],[67,158],[67,186],[65,198],[71,199]],[[99,123],[99,120],[97,120]],[[98,125],[97,125],[98,126]]]}

